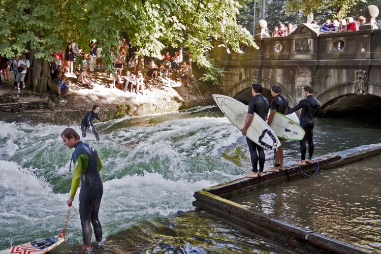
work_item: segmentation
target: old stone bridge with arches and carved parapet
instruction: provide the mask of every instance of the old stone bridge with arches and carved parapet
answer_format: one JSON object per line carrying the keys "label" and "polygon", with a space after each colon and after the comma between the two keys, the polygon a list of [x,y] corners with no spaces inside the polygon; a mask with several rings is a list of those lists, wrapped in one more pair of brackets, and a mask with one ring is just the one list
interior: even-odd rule
{"label": "old stone bridge with arches and carved parapet", "polygon": [[242,46],[242,53],[228,54],[215,41],[211,57],[227,71],[219,92],[247,104],[253,82],[268,99],[276,84],[293,106],[311,85],[321,115],[381,107],[381,29],[320,34],[315,28],[302,24],[288,37],[256,38],[259,49]]}

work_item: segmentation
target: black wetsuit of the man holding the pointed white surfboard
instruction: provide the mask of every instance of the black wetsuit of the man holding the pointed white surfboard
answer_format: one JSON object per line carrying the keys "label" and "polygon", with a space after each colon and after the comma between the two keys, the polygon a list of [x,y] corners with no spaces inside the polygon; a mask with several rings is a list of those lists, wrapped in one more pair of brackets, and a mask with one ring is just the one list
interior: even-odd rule
{"label": "black wetsuit of the man holding the pointed white surfboard", "polygon": [[[249,109],[247,114],[257,113],[262,119],[265,120],[265,116],[269,111],[269,101],[262,96],[262,94],[257,94],[249,101]],[[265,152],[262,146],[257,145],[255,142],[251,141],[246,137],[247,145],[250,151],[250,160],[252,165],[252,172],[258,172],[257,164],[259,161],[259,171],[263,172],[265,166]],[[258,153],[257,153],[258,151]]]}

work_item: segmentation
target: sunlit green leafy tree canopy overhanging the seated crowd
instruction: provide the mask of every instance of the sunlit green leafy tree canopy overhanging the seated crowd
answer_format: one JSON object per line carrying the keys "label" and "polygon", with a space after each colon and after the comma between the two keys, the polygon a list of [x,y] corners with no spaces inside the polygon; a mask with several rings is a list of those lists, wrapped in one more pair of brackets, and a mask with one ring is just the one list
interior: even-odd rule
{"label": "sunlit green leafy tree canopy overhanging the seated crowd", "polygon": [[183,46],[199,66],[212,68],[210,39],[228,51],[255,46],[236,22],[235,0],[2,0],[0,8],[0,54],[8,57],[31,52],[51,60],[68,42],[87,50],[87,41],[97,40],[107,58],[124,34],[140,55],[160,57],[168,46]]}

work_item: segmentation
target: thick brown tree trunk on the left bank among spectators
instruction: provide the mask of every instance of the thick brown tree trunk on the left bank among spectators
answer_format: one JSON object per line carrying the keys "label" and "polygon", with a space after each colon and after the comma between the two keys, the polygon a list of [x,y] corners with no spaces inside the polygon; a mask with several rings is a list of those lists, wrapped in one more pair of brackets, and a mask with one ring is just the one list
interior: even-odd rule
{"label": "thick brown tree trunk on the left bank among spectators", "polygon": [[33,92],[58,93],[50,76],[49,62],[36,59],[34,53],[35,50],[31,49],[29,54],[30,67],[26,81],[27,87]]}

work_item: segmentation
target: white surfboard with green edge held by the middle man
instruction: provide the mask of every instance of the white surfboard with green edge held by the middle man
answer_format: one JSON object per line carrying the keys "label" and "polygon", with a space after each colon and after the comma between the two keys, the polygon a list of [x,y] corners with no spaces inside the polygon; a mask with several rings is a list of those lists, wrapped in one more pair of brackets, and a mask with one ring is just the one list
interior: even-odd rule
{"label": "white surfboard with green edge held by the middle man", "polygon": [[278,138],[286,140],[302,140],[304,137],[304,130],[298,123],[290,117],[278,112],[275,112],[270,128],[275,132]]}

